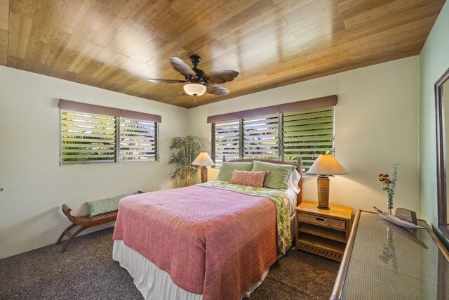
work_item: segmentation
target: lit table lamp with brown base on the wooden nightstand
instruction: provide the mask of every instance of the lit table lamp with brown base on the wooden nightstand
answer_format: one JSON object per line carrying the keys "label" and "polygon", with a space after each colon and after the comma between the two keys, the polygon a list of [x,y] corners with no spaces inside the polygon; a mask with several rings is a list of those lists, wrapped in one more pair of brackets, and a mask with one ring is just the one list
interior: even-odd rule
{"label": "lit table lamp with brown base on the wooden nightstand", "polygon": [[311,165],[307,174],[317,174],[316,190],[318,190],[318,208],[329,209],[329,177],[328,175],[344,175],[348,171],[331,154],[320,155]]}

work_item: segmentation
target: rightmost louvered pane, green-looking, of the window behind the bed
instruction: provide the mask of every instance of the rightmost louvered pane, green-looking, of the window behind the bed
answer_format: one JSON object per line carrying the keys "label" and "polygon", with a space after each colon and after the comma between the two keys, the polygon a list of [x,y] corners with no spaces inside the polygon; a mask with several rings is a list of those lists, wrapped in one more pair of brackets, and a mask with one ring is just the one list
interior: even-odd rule
{"label": "rightmost louvered pane, green-looking, of the window behind the bed", "polygon": [[306,171],[320,154],[333,151],[333,107],[283,114],[282,158],[302,158]]}

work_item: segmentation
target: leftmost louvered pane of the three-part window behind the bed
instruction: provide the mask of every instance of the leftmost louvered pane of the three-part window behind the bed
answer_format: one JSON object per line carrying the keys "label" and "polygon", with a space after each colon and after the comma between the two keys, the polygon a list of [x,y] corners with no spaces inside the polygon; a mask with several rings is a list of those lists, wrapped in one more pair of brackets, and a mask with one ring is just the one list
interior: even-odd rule
{"label": "leftmost louvered pane of the three-part window behind the bed", "polygon": [[226,159],[240,158],[240,122],[231,120],[215,123],[213,143],[215,143],[215,167],[221,167],[223,155]]}

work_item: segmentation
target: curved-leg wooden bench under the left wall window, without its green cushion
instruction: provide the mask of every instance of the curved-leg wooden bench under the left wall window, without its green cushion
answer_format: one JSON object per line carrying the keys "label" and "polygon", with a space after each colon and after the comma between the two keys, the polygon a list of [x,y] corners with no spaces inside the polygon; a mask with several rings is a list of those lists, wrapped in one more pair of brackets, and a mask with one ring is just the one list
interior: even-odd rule
{"label": "curved-leg wooden bench under the left wall window, without its green cushion", "polygon": [[[72,242],[74,237],[76,237],[76,235],[79,235],[81,231],[86,230],[87,228],[91,228],[93,226],[115,221],[117,219],[117,212],[118,212],[118,211],[111,211],[105,214],[98,214],[97,216],[72,216],[70,214],[70,211],[72,211],[70,207],[68,207],[66,204],[62,205],[62,212],[72,222],[72,225],[70,225],[69,227],[67,227],[67,229],[62,231],[60,237],[58,238],[58,242],[56,242],[56,244],[59,244],[62,241],[62,237],[64,237],[64,235],[67,236],[67,242],[65,242],[65,245],[64,247],[62,247],[61,252],[65,252],[67,250],[67,247],[69,246],[70,242]],[[70,233],[70,230],[74,228],[76,225],[79,225],[81,227],[78,228],[78,230],[76,230],[73,234]]]}

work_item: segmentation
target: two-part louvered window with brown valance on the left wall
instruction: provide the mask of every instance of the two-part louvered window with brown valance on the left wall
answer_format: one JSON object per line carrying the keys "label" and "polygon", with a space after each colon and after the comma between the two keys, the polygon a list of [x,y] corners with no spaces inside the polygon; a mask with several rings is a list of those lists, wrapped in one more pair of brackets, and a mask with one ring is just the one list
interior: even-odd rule
{"label": "two-part louvered window with brown valance on the left wall", "polygon": [[60,100],[60,164],[159,161],[156,115]]}

